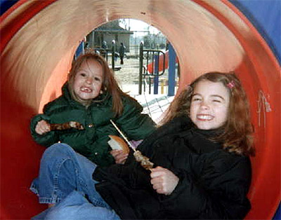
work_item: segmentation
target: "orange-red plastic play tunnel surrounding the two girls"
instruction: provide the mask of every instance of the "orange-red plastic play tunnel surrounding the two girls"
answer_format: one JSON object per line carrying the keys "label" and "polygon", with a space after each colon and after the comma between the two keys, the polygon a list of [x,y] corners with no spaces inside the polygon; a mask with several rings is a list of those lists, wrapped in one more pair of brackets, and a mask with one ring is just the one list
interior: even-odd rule
{"label": "orange-red plastic play tunnel surrounding the two girls", "polygon": [[272,219],[280,202],[280,64],[261,34],[229,1],[20,0],[1,16],[1,219],[30,219],[29,186],[44,147],[30,118],[60,95],[79,41],[119,18],[157,27],[174,46],[182,90],[207,71],[236,71],[251,104],[256,157],[246,219]]}

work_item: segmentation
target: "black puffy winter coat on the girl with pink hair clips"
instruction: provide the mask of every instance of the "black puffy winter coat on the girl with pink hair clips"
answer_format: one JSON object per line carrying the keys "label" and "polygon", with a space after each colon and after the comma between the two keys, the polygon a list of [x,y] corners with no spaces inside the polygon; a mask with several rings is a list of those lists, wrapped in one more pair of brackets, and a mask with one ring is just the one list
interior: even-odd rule
{"label": "black puffy winter coat on the girl with pink hair clips", "polygon": [[150,172],[133,158],[125,165],[97,167],[96,190],[122,219],[243,219],[251,207],[251,163],[211,142],[216,132],[198,130],[181,117],[138,146],[155,166],[179,177],[171,195],[156,193]]}

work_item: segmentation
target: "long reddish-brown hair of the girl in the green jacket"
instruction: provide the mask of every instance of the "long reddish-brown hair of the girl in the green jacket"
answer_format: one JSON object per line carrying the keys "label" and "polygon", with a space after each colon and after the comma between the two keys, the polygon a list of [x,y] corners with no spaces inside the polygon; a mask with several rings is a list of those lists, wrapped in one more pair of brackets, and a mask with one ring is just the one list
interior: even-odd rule
{"label": "long reddish-brown hair of the girl in the green jacket", "polygon": [[[108,92],[110,95],[112,95],[112,111],[115,112],[115,116],[121,115],[123,112],[122,96],[129,97],[129,95],[127,95],[119,88],[119,85],[115,80],[115,77],[113,76],[112,69],[108,67],[105,59],[96,53],[85,53],[84,55],[80,55],[77,60],[74,60],[74,62],[72,62],[72,67],[70,69],[70,73],[68,74],[68,89],[70,90],[72,98],[76,101],[78,100],[73,90],[74,78],[77,74],[78,69],[81,67],[81,64],[88,60],[96,60],[103,67],[103,84],[101,87],[101,91]],[[89,106],[91,102],[94,102],[94,100],[90,100],[84,105]]]}

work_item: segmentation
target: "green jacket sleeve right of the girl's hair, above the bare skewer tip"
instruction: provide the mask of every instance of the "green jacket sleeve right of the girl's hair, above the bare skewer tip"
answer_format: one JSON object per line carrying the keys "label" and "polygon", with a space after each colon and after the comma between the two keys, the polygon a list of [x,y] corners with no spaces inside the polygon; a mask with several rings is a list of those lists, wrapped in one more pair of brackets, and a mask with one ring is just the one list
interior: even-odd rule
{"label": "green jacket sleeve right of the girl's hair, above the bare skewer tip", "polygon": [[134,99],[124,97],[124,111],[117,119],[117,125],[129,139],[140,140],[155,130],[155,123],[147,114],[141,114],[143,107]]}

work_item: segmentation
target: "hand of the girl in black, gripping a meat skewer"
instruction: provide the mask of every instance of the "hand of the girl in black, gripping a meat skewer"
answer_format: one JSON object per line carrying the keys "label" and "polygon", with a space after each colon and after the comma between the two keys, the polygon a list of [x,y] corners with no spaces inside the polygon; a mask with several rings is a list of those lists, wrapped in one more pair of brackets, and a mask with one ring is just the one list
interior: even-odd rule
{"label": "hand of the girl in black, gripping a meat skewer", "polygon": [[157,193],[170,195],[176,185],[178,185],[178,177],[168,169],[163,167],[156,167],[151,169],[150,183]]}

